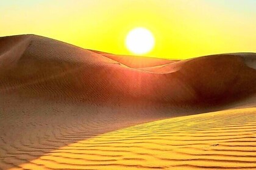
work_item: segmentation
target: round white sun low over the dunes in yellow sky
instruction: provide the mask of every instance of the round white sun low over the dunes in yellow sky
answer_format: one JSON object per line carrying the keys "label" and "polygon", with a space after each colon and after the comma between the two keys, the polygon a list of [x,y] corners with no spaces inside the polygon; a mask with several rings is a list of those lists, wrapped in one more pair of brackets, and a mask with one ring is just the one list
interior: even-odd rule
{"label": "round white sun low over the dunes in yellow sky", "polygon": [[131,30],[126,36],[127,49],[137,55],[150,52],[155,46],[154,35],[143,27]]}

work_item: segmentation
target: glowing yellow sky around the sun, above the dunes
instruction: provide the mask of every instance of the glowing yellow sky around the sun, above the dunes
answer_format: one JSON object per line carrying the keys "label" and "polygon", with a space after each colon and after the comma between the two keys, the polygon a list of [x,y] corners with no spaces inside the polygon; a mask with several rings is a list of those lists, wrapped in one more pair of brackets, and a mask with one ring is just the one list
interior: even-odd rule
{"label": "glowing yellow sky around the sun, above the dunes", "polygon": [[143,27],[155,38],[146,56],[256,52],[255,7],[254,0],[1,0],[0,36],[35,34],[133,55],[126,36]]}

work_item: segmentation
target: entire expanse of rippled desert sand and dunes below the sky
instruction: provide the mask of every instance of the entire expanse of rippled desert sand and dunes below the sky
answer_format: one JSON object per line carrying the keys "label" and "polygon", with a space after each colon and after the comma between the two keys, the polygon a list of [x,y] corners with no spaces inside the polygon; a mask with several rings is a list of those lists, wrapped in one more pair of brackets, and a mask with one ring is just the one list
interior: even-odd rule
{"label": "entire expanse of rippled desert sand and dunes below the sky", "polygon": [[256,54],[0,38],[0,169],[256,169]]}

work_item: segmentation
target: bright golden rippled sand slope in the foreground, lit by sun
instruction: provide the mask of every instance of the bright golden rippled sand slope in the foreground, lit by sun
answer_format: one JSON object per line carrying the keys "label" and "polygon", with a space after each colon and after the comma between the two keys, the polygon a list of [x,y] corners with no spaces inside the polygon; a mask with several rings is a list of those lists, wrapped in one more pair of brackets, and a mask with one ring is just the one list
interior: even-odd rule
{"label": "bright golden rippled sand slope in the foreground, lit by sun", "polygon": [[169,118],[59,148],[26,169],[256,169],[256,108]]}

